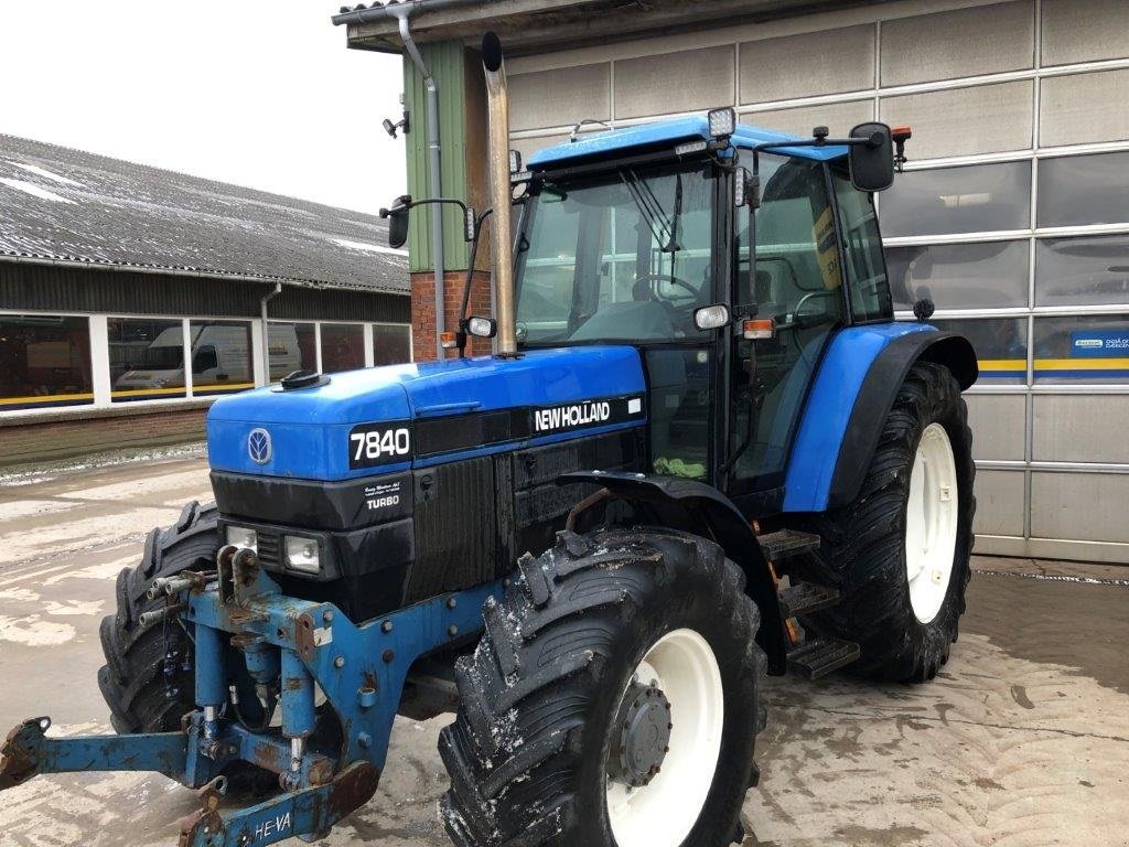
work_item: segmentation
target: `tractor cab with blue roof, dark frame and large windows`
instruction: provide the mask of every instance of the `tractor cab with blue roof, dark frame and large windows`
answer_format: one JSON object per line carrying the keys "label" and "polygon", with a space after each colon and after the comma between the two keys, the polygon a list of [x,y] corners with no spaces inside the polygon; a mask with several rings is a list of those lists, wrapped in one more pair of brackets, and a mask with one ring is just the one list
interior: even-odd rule
{"label": "tractor cab with blue roof, dark frame and large windows", "polygon": [[891,133],[817,132],[717,110],[575,138],[515,176],[518,349],[636,347],[648,470],[752,497],[751,512],[781,501],[833,332],[893,318],[872,199],[892,180]]}

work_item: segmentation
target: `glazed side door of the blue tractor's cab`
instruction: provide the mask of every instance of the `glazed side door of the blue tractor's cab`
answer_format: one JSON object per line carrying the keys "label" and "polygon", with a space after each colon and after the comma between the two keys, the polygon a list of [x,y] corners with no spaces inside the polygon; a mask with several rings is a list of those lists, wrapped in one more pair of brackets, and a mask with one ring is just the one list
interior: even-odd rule
{"label": "glazed side door of the blue tractor's cab", "polygon": [[[735,222],[735,314],[771,318],[773,337],[734,341],[730,497],[782,497],[788,453],[816,367],[844,317],[834,204],[822,161],[761,155],[761,203]],[[751,262],[751,241],[755,262]]]}

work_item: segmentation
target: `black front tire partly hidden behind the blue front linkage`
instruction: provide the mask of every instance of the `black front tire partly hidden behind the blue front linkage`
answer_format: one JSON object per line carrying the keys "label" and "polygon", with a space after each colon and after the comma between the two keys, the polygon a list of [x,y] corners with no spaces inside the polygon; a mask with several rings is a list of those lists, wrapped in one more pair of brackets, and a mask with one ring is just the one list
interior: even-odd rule
{"label": "black front tire partly hidden behind the blue front linkage", "polygon": [[[215,504],[201,506],[193,500],[173,526],[150,531],[140,564],[117,575],[117,612],[103,618],[98,630],[106,657],[98,671],[98,688],[119,734],[175,732],[181,717],[196,708],[187,634],[175,621],[167,628],[160,622],[142,627],[140,615],[165,605],[164,599],[146,599],[154,579],[193,568],[215,569],[220,548],[216,518]],[[243,796],[265,796],[279,789],[273,774],[245,762],[233,765],[226,774],[229,791]]]}

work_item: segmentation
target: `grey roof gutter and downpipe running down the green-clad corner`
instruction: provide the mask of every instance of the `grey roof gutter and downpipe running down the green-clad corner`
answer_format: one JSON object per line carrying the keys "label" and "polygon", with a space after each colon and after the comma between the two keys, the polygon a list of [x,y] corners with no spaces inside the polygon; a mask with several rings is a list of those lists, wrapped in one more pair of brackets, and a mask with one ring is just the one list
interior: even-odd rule
{"label": "grey roof gutter and downpipe running down the green-clad corner", "polygon": [[[435,10],[452,6],[466,6],[472,0],[430,0],[427,9]],[[478,0],[473,0],[478,2]],[[404,50],[408,51],[415,70],[423,77],[423,85],[427,88],[427,147],[428,147],[428,169],[431,197],[443,197],[443,169],[440,164],[439,148],[439,89],[435,85],[435,77],[423,61],[415,41],[412,38],[409,19],[412,12],[425,6],[425,0],[413,0],[412,2],[394,3],[390,6],[371,7],[369,9],[358,9],[333,18],[334,25],[362,24],[366,20],[395,18],[400,25],[400,38],[404,42]],[[443,206],[431,204],[431,259],[435,265],[435,355],[438,359],[447,357],[443,347],[443,332],[445,329],[445,298],[444,289],[444,255],[443,255]]]}

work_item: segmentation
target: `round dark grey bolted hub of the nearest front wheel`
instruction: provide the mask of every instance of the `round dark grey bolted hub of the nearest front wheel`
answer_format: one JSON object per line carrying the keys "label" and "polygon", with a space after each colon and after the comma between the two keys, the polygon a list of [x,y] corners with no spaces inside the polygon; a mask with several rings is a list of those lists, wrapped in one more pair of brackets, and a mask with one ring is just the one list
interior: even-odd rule
{"label": "round dark grey bolted hub of the nearest front wheel", "polygon": [[632,788],[648,785],[663,768],[673,728],[663,690],[632,680],[615,715],[612,740],[619,750],[609,757],[609,776]]}

